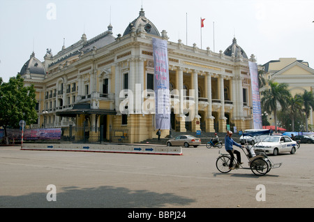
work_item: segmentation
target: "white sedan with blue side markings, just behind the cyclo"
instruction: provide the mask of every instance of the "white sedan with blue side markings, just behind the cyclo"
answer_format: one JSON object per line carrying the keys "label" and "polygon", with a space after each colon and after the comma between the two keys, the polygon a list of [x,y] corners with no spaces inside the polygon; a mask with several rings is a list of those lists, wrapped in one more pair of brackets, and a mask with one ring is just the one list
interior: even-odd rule
{"label": "white sedan with blue side markings, just behind the cyclo", "polygon": [[283,152],[290,152],[294,154],[297,150],[297,142],[291,140],[290,137],[286,135],[269,135],[264,138],[262,142],[258,142],[253,146],[254,151],[263,151],[265,154],[281,154]]}

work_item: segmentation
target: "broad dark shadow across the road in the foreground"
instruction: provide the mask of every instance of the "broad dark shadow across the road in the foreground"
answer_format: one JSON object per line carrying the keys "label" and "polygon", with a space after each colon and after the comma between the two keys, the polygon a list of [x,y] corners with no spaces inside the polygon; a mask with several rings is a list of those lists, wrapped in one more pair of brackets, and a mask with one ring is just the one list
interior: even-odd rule
{"label": "broad dark shadow across the road in the foreground", "polygon": [[[47,201],[47,193],[27,195],[0,195],[0,207],[188,207],[195,200],[172,193],[147,190],[130,190],[124,187],[100,186],[97,188],[63,187],[57,201]],[[50,194],[48,195],[51,196]]]}

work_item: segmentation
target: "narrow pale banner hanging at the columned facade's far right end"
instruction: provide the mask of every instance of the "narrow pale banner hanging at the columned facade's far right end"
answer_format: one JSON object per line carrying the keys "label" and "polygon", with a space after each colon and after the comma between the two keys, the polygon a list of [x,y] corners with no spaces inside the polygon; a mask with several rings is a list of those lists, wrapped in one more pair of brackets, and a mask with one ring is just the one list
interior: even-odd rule
{"label": "narrow pale banner hanging at the columned facade's far right end", "polygon": [[253,124],[254,128],[262,128],[262,109],[260,105],[260,90],[258,89],[257,64],[248,61],[248,68],[251,75],[252,101],[253,101]]}

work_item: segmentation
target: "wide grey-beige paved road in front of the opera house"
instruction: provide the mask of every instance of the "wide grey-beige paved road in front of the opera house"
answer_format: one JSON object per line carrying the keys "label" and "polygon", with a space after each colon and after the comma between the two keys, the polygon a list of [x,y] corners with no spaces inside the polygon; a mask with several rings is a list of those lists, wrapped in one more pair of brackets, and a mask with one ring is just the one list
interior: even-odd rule
{"label": "wide grey-beige paved road in front of the opera house", "polygon": [[[0,147],[0,207],[314,207],[314,145],[270,156],[283,165],[264,177],[218,172],[218,150],[165,156]],[[47,201],[49,184],[57,201]]]}

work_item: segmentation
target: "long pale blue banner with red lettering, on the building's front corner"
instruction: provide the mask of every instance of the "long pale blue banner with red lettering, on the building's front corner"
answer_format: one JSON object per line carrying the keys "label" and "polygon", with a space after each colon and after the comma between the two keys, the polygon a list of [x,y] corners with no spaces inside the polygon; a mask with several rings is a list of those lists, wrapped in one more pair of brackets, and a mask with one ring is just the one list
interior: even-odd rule
{"label": "long pale blue banner with red lettering, on the building's front corner", "polygon": [[167,40],[153,38],[156,128],[170,129],[170,93]]}

